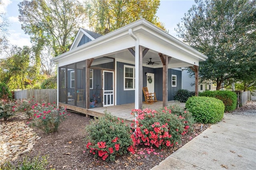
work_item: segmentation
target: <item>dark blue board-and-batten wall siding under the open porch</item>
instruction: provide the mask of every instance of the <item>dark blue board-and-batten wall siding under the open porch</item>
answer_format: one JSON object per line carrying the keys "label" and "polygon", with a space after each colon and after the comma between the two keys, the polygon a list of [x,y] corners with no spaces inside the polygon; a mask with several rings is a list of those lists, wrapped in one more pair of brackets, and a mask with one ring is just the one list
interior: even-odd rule
{"label": "dark blue board-and-batten wall siding under the open porch", "polygon": [[[117,62],[117,73],[116,73],[116,105],[123,105],[128,103],[134,103],[135,91],[134,90],[124,90],[124,65],[134,66],[132,64]],[[150,68],[143,67],[143,77],[140,79],[143,81],[143,87],[147,85],[146,73],[154,73],[154,92],[156,93],[156,99],[162,101],[163,99],[163,68]],[[177,76],[176,87],[171,87],[172,75]],[[182,72],[175,69],[168,69],[168,101],[174,100],[174,95],[178,89],[182,88]],[[142,93],[142,100],[144,99],[144,94]]]}

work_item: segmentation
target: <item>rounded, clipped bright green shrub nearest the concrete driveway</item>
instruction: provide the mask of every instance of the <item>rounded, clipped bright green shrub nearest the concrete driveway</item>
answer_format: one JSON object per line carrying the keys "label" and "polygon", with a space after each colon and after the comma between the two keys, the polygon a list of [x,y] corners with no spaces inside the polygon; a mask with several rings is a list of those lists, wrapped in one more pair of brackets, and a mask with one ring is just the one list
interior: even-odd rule
{"label": "rounded, clipped bright green shrub nearest the concrete driveway", "polygon": [[198,123],[216,123],[224,116],[224,104],[213,97],[190,97],[186,108],[192,113]]}

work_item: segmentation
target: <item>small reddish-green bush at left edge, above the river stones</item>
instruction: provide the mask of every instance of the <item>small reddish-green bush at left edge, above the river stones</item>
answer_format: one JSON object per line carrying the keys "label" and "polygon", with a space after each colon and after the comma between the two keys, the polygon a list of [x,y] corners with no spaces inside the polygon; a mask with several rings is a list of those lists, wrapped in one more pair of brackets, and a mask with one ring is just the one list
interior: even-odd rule
{"label": "small reddish-green bush at left edge, above the river stones", "polygon": [[4,121],[15,115],[14,103],[10,100],[0,100],[0,119]]}

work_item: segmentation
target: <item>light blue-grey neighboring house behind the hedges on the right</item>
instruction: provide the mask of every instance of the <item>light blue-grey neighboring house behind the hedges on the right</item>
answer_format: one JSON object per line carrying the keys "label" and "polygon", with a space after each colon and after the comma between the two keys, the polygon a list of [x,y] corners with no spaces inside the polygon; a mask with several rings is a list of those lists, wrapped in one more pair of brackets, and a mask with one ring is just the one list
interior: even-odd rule
{"label": "light blue-grey neighboring house behind the hedges on the right", "polygon": [[[211,80],[208,81],[198,81],[198,91],[214,91],[216,90],[216,87],[213,85]],[[182,68],[182,89],[186,89],[188,91],[195,91],[195,76],[190,76],[190,73],[188,72],[187,68]]]}

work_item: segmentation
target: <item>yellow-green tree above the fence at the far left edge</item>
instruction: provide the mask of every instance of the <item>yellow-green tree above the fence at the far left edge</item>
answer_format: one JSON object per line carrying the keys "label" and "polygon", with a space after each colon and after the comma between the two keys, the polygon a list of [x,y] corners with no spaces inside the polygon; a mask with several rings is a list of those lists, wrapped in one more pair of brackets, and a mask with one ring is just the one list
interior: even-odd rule
{"label": "yellow-green tree above the fence at the far left edge", "polygon": [[10,54],[0,59],[0,81],[10,89],[26,89],[36,81],[31,49],[12,46]]}

